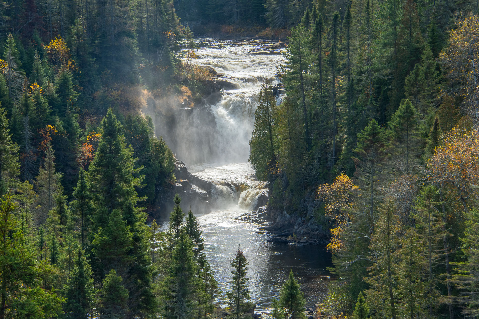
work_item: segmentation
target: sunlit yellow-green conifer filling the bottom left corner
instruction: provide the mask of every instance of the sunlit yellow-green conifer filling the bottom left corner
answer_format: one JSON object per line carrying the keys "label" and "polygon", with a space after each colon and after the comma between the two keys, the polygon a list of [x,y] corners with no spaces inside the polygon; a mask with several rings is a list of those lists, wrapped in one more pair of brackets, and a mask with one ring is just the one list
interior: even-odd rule
{"label": "sunlit yellow-green conifer filling the bottom left corner", "polygon": [[15,209],[10,195],[0,198],[0,319],[56,317],[65,299],[45,289],[44,278],[52,269],[31,250]]}

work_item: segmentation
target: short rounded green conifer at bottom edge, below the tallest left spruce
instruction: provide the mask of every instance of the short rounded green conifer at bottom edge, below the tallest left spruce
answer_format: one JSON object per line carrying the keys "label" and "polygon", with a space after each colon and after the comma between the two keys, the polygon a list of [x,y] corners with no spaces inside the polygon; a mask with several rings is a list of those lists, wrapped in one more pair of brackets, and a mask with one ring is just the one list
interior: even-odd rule
{"label": "short rounded green conifer at bottom edge, below the tallest left spruce", "polygon": [[127,313],[128,290],[122,282],[123,278],[114,269],[103,279],[99,310],[106,318],[121,318]]}

